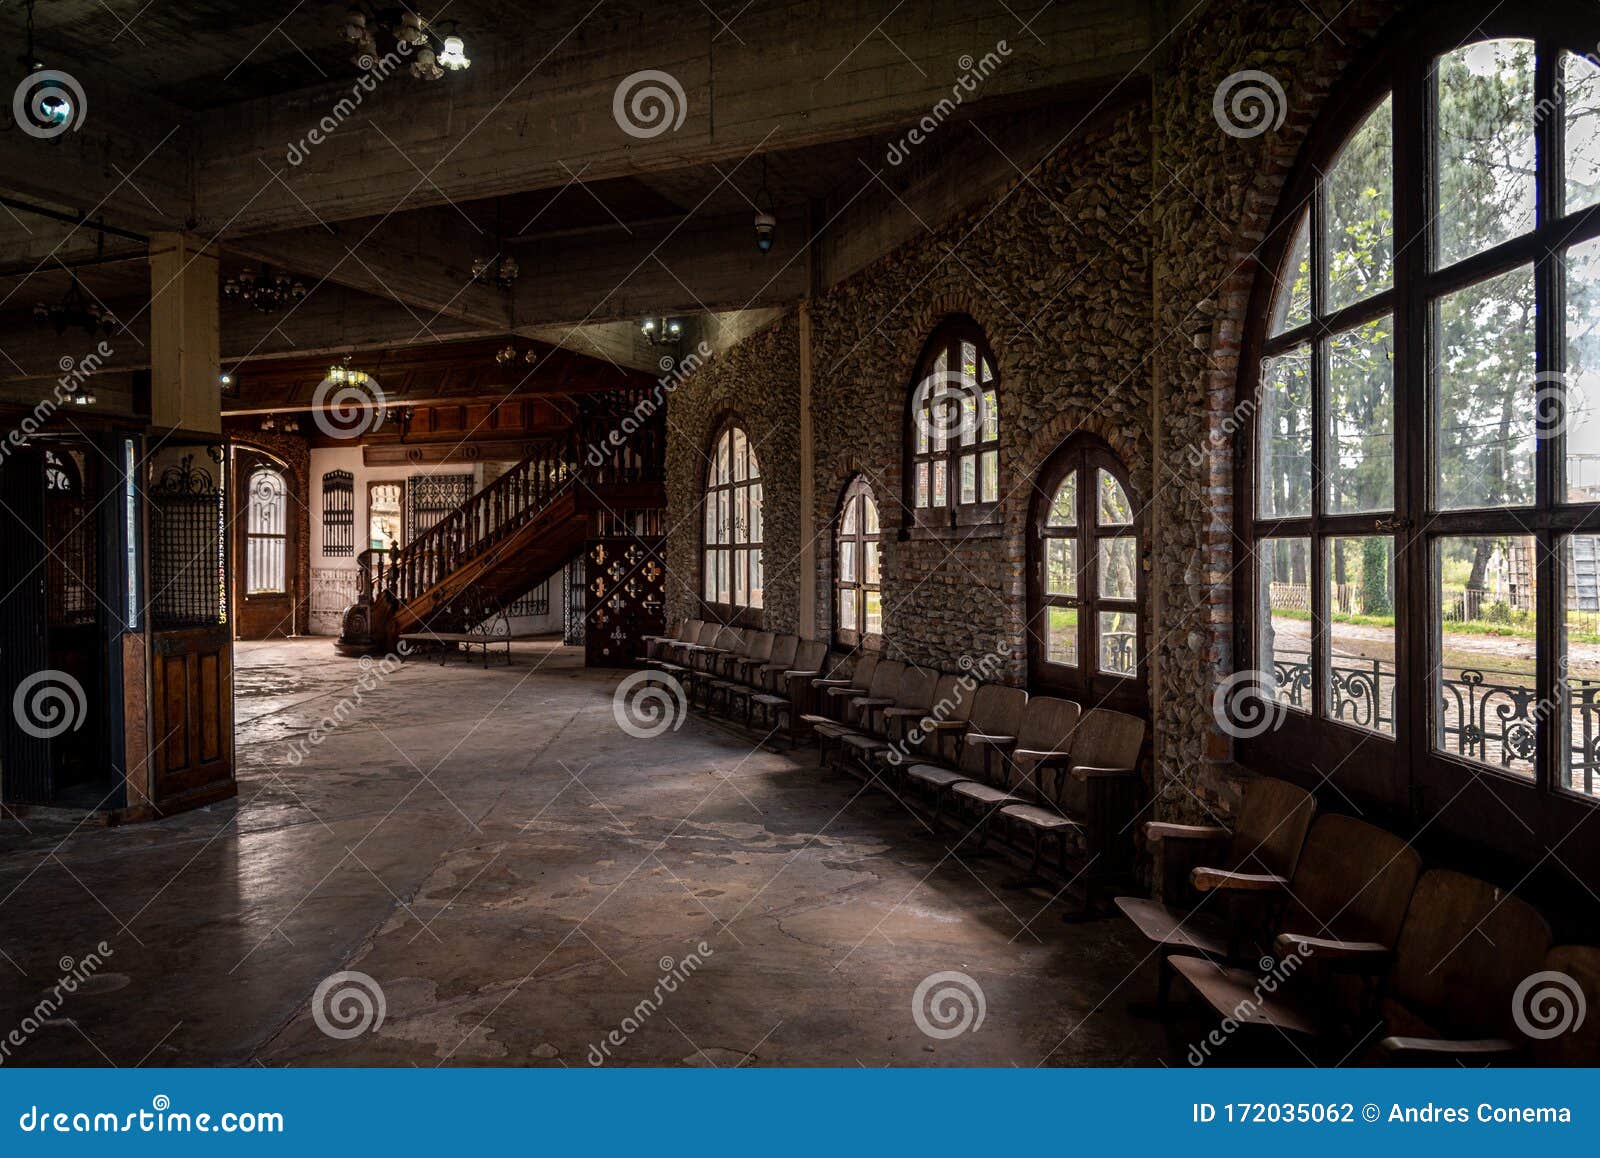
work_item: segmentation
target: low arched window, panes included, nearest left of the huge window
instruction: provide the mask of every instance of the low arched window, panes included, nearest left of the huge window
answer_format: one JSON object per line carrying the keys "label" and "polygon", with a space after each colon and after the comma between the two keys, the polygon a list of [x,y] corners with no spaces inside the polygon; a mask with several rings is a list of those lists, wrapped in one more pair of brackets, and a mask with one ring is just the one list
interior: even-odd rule
{"label": "low arched window, panes included, nearest left of the huge window", "polygon": [[1139,699],[1139,520],[1110,448],[1082,435],[1050,457],[1030,531],[1030,677],[1094,702]]}

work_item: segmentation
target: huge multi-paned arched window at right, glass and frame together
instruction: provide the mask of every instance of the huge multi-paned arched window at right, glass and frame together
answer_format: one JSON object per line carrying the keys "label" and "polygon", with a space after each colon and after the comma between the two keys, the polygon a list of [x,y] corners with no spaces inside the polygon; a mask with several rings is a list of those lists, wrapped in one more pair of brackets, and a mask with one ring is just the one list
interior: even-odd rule
{"label": "huge multi-paned arched window at right, glass and frame together", "polygon": [[1550,824],[1528,787],[1600,793],[1600,22],[1450,19],[1341,101],[1280,211],[1235,665],[1275,701],[1248,758],[1461,797],[1429,824],[1506,845],[1480,792]]}

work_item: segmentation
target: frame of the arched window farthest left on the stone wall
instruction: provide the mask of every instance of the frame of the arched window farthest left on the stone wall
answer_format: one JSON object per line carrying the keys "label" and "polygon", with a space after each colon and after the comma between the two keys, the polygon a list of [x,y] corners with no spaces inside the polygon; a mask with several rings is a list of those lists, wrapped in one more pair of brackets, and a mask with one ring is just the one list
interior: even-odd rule
{"label": "frame of the arched window farthest left on the stone wall", "polygon": [[[738,435],[738,438],[736,438]],[[736,462],[736,446],[742,438],[744,443],[744,478],[739,478],[739,464]],[[728,445],[728,478],[718,478],[717,456],[722,453],[722,445]],[[757,491],[758,493],[752,493]],[[746,518],[742,526],[744,537],[741,539],[739,525],[739,494],[746,496]],[[722,496],[728,496],[726,502],[726,520],[722,515]],[[766,518],[765,507],[760,505],[766,496],[766,480],[762,475],[760,459],[755,454],[755,443],[749,435],[749,429],[744,422],[738,419],[725,419],[722,425],[717,427],[717,435],[710,440],[710,453],[706,456],[706,475],[701,486],[702,509],[699,517],[701,525],[701,574],[699,574],[699,600],[701,608],[709,619],[717,619],[725,624],[760,627],[765,616],[765,592],[766,592]],[[762,534],[754,536],[750,525],[760,518]],[[715,541],[707,534],[707,521],[715,521]],[[726,526],[726,537],[723,537],[722,528]],[[760,557],[762,561],[762,603],[750,601],[750,581],[749,566],[754,557]],[[718,557],[726,557],[728,566],[728,598],[720,598],[720,587],[715,597],[709,597],[707,581],[715,566]],[[744,600],[739,600],[739,577],[744,579]]]}

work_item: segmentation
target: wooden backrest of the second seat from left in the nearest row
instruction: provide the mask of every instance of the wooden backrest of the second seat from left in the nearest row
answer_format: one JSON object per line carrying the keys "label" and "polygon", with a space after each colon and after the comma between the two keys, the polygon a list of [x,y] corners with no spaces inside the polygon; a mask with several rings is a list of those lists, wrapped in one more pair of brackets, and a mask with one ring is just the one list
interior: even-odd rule
{"label": "wooden backrest of the second seat from left in the nearest row", "polygon": [[1422,857],[1392,832],[1323,813],[1294,865],[1283,931],[1392,948],[1421,872]]}

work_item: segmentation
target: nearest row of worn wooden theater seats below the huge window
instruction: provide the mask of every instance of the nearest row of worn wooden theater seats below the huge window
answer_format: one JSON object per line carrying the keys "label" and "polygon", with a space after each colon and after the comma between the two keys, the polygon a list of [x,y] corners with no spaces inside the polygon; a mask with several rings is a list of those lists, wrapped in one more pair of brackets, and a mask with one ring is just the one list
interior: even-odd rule
{"label": "nearest row of worn wooden theater seats below the huge window", "polygon": [[1218,1017],[1264,1043],[1286,1035],[1307,1057],[1600,1062],[1597,1017],[1554,1036],[1523,1032],[1560,1014],[1562,998],[1533,1008],[1539,995],[1525,982],[1536,974],[1565,976],[1536,982],[1566,987],[1568,1012],[1600,1003],[1600,948],[1552,947],[1525,900],[1424,867],[1400,837],[1318,816],[1310,793],[1272,777],[1245,787],[1232,827],[1152,822],[1146,835],[1162,848],[1173,900],[1117,905],[1162,953],[1163,1009],[1182,979]]}

